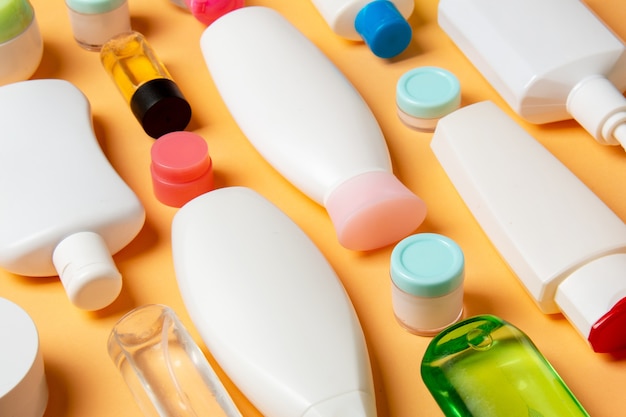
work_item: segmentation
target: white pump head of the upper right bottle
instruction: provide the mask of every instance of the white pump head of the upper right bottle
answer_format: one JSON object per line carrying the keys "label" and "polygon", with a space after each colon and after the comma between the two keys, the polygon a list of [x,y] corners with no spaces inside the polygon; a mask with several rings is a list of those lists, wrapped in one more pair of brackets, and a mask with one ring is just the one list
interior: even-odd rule
{"label": "white pump head of the upper right bottle", "polygon": [[594,75],[576,84],[567,111],[601,144],[626,149],[626,98],[605,77]]}

